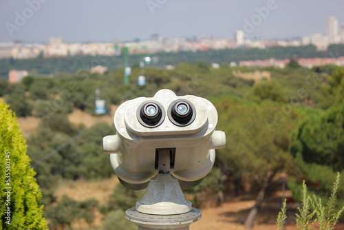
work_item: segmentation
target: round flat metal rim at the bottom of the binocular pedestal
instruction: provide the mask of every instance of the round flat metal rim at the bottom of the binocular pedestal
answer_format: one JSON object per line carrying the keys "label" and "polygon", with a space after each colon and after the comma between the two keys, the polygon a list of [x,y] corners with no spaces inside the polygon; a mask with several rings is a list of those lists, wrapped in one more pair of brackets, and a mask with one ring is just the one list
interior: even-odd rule
{"label": "round flat metal rim at the bottom of the binocular pedestal", "polygon": [[192,208],[191,211],[176,215],[151,215],[140,213],[136,208],[125,211],[125,216],[131,222],[138,224],[139,230],[144,229],[179,229],[187,230],[189,225],[202,218],[200,209]]}

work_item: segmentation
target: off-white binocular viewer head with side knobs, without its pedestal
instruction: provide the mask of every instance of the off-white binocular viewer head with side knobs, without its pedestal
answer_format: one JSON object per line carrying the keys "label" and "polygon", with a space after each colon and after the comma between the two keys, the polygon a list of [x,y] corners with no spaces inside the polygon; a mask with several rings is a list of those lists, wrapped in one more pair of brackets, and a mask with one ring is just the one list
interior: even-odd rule
{"label": "off-white binocular viewer head with side knobs, without its pedestal", "polygon": [[122,103],[114,116],[116,135],[103,138],[104,151],[123,185],[144,189],[158,174],[159,151],[169,150],[170,174],[193,187],[213,167],[215,149],[226,145],[215,131],[214,105],[197,96],[160,90],[152,98]]}

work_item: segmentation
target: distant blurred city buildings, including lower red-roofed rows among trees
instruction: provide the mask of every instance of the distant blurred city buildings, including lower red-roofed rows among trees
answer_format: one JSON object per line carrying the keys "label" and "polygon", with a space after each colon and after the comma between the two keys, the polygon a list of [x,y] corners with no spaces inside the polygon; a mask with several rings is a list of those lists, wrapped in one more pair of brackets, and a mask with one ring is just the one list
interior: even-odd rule
{"label": "distant blurred city buildings, including lower red-roofed rows among trees", "polygon": [[[63,57],[75,55],[90,56],[120,56],[122,48],[128,48],[129,54],[152,55],[157,52],[196,52],[206,50],[223,50],[237,48],[258,48],[266,49],[273,46],[300,46],[314,45],[316,49],[327,50],[328,45],[344,43],[344,23],[341,29],[338,28],[338,20],[335,16],[327,17],[326,35],[321,33],[311,34],[296,39],[245,39],[244,31],[237,30],[233,34],[233,38],[215,39],[212,37],[200,37],[187,39],[184,37],[164,38],[154,34],[151,39],[145,41],[131,41],[113,43],[63,43],[63,37],[57,36],[50,38],[49,43],[0,43],[0,59],[33,59],[38,56]],[[283,68],[289,63],[290,59],[279,60],[271,57],[264,60],[242,60],[239,63],[229,63],[231,66],[248,66],[248,67],[279,67]],[[323,65],[344,65],[344,57],[333,58],[308,58],[297,59],[302,67],[311,68]],[[218,63],[212,63],[212,67],[219,67]],[[173,66],[166,66],[173,68]],[[105,66],[95,66],[90,72],[98,72],[103,74],[108,70]],[[28,76],[26,70],[10,70],[8,80],[10,83],[21,81],[23,77]]]}

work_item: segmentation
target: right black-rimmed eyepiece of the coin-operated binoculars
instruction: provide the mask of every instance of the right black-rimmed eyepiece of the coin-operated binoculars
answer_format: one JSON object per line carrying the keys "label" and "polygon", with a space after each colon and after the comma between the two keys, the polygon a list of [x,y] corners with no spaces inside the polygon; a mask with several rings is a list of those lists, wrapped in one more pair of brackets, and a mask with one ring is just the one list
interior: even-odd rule
{"label": "right black-rimmed eyepiece of the coin-operated binoculars", "polygon": [[189,101],[177,100],[169,106],[169,119],[174,125],[190,125],[195,120],[195,116],[195,106]]}

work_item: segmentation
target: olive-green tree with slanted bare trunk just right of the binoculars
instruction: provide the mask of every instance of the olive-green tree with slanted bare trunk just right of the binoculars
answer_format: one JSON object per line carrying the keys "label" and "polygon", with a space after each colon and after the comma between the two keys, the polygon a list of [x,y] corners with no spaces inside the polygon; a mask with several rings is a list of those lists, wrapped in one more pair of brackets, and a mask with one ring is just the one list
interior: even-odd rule
{"label": "olive-green tree with slanted bare trunk just right of the binoculars", "polygon": [[258,105],[237,96],[218,97],[213,103],[219,114],[217,126],[227,138],[226,148],[217,150],[218,159],[233,176],[248,175],[259,186],[256,204],[246,218],[245,228],[250,229],[272,178],[281,171],[294,173],[289,136],[303,112],[286,112],[279,103]]}

